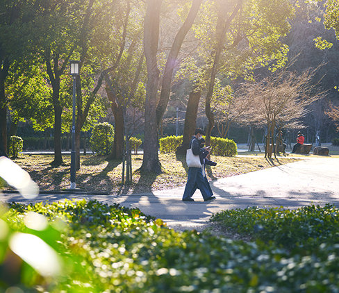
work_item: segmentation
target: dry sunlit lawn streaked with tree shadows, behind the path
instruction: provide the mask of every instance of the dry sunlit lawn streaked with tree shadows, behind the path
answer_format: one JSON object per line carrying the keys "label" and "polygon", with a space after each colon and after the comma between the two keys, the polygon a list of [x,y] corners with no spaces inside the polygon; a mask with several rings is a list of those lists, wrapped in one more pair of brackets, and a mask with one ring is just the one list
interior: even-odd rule
{"label": "dry sunlit lawn streaked with tree shadows, behind the path", "polygon": [[[241,153],[242,154],[242,153]],[[131,194],[166,190],[185,185],[188,167],[185,157],[176,158],[173,153],[159,155],[163,174],[140,174],[142,155],[132,156],[133,183],[122,185],[122,162],[107,161],[106,156],[81,156],[81,169],[76,172],[76,186],[87,192],[110,192],[113,194]],[[70,156],[63,156],[64,163],[60,167],[52,167],[49,163],[53,156],[20,155],[15,162],[23,167],[38,183],[40,190],[63,190],[69,187]],[[212,156],[216,167],[208,167],[206,173],[210,180],[234,176],[266,169],[276,165],[295,162],[297,158],[279,157],[273,160],[258,156],[221,157]]]}

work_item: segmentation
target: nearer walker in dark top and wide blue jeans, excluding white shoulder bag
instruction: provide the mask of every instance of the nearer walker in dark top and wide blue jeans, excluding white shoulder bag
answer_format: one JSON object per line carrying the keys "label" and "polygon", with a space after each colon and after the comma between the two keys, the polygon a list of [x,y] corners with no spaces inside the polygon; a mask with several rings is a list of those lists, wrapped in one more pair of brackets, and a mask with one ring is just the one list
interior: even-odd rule
{"label": "nearer walker in dark top and wide blue jeans, excluding white shoulder bag", "polygon": [[[192,149],[194,156],[206,158],[206,152],[209,153],[210,147],[201,148],[199,146],[199,140],[201,140],[202,135],[205,135],[205,132],[201,128],[195,129],[195,135],[192,136],[192,140],[190,141],[190,149]],[[201,162],[201,165],[203,164],[204,162]],[[208,190],[202,168],[203,167],[188,168],[188,178],[185,191],[183,192],[183,201],[195,201],[192,199],[192,196],[197,188],[199,188],[204,201],[213,201],[215,199],[215,196],[212,196],[210,190]]]}

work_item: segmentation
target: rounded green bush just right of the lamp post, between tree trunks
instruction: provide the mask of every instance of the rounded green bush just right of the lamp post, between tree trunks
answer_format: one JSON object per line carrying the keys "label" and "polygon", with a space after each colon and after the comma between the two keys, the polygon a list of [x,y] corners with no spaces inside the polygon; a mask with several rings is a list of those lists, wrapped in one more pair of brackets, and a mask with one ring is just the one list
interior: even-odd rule
{"label": "rounded green bush just right of the lamp post, between tree trunks", "polygon": [[99,155],[109,155],[113,147],[114,128],[107,122],[94,124],[90,147]]}

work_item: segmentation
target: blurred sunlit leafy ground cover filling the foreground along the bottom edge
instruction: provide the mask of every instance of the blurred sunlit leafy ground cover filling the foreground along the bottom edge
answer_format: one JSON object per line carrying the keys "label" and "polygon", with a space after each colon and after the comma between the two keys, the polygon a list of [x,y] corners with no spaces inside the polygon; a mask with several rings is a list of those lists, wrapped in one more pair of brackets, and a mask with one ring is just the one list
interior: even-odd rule
{"label": "blurred sunlit leafy ground cover filling the foreground along the bottom edge", "polygon": [[[339,212],[333,207],[325,210]],[[44,215],[49,224],[33,227],[27,219],[32,212],[34,217]],[[6,231],[0,237],[2,290],[16,286],[24,292],[338,291],[339,246],[330,242],[319,243],[316,253],[292,253],[263,242],[179,233],[139,210],[97,201],[12,203],[2,214],[1,231]],[[59,274],[51,278],[37,271],[34,263],[18,258],[22,252],[13,246],[18,233],[35,235],[58,251]],[[6,278],[8,258],[12,264],[16,261],[15,278]]]}

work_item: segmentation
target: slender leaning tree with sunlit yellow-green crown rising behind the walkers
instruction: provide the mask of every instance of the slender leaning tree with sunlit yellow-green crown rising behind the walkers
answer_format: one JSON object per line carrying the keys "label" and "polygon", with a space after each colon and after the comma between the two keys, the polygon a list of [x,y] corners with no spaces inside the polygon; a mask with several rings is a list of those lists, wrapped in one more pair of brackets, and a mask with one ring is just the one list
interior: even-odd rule
{"label": "slender leaning tree with sunlit yellow-green crown rising behind the walkers", "polygon": [[195,71],[195,78],[190,79],[198,81],[199,90],[206,95],[207,145],[215,126],[213,97],[216,91],[222,90],[215,85],[229,87],[239,76],[251,80],[258,67],[270,66],[274,70],[283,66],[288,47],[281,37],[290,28],[289,17],[292,17],[290,1],[219,0],[204,3],[194,28],[199,46],[195,49],[195,60],[190,58],[190,61],[195,65],[186,63],[184,70]]}

